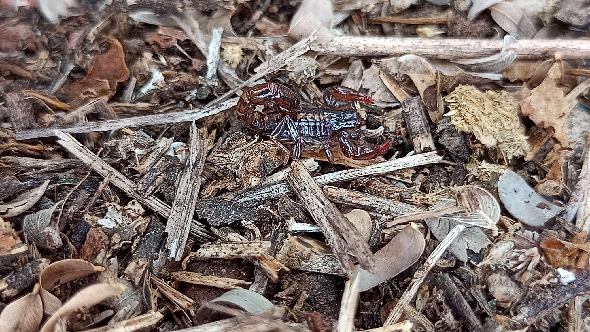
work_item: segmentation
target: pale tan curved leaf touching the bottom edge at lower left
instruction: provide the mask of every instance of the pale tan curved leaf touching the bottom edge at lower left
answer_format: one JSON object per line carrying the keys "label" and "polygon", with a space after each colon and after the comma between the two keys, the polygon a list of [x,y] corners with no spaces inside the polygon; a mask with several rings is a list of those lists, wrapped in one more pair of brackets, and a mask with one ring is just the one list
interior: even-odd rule
{"label": "pale tan curved leaf touching the bottom edge at lower left", "polygon": [[58,320],[67,317],[72,311],[90,307],[108,297],[120,295],[124,290],[125,287],[122,284],[97,284],[82,289],[45,322],[41,332],[53,332]]}

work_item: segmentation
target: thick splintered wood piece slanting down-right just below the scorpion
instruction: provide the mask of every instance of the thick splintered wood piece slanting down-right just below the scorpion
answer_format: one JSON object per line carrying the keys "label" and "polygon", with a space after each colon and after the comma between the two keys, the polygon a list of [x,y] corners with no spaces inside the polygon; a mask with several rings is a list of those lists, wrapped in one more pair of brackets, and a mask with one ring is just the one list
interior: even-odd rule
{"label": "thick splintered wood piece slanting down-right just below the scorpion", "polygon": [[372,271],[375,259],[368,243],[362,238],[359,230],[340,213],[336,205],[326,198],[322,188],[317,185],[312,174],[301,162],[291,162],[287,183],[317,225],[322,228],[328,244],[338,256],[346,273],[350,273],[352,269],[349,252],[355,255],[362,268]]}

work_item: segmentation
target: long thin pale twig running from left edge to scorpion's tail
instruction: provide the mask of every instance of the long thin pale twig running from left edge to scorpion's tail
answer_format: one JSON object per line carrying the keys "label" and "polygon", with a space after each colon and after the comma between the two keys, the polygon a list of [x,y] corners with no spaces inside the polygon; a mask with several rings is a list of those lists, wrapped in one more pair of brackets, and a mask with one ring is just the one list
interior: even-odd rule
{"label": "long thin pale twig running from left edge to scorpion's tail", "polygon": [[96,122],[81,122],[75,125],[64,126],[60,128],[37,128],[26,131],[15,132],[14,137],[19,141],[22,139],[40,138],[53,136],[55,130],[65,133],[76,134],[80,132],[110,131],[125,127],[139,127],[151,125],[163,125],[165,123],[178,123],[195,121],[205,116],[215,115],[224,110],[230,109],[236,105],[238,98],[232,98],[218,105],[205,106],[202,109],[182,110],[181,112],[152,114],[143,116],[134,116],[124,119],[110,119]]}

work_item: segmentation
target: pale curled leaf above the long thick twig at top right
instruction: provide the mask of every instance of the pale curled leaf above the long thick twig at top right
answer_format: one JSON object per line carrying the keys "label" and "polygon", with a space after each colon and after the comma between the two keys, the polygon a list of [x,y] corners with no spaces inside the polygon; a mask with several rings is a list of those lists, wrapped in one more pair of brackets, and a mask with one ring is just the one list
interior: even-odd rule
{"label": "pale curled leaf above the long thick twig at top right", "polygon": [[517,6],[510,2],[500,2],[490,7],[491,17],[501,28],[516,39],[535,37],[537,28]]}

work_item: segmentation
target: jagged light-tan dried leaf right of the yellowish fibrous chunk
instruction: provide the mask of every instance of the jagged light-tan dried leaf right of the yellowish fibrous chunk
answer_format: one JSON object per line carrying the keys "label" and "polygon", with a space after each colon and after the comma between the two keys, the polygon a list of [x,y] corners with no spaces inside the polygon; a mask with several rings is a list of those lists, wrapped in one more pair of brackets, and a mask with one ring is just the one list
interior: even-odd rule
{"label": "jagged light-tan dried leaf right of the yellowish fibrous chunk", "polygon": [[523,92],[520,101],[522,115],[528,116],[537,126],[547,129],[562,147],[568,147],[566,120],[573,105],[566,105],[566,92],[569,90],[559,83],[562,79],[562,66],[554,63],[539,86]]}

